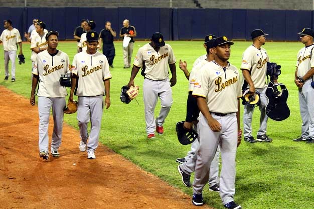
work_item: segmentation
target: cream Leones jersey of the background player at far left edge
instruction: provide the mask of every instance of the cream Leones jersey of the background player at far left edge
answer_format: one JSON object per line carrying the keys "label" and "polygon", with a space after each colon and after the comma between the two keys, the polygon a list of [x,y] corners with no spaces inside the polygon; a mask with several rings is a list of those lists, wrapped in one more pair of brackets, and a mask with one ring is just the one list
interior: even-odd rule
{"label": "cream Leones jersey of the background player at far left edge", "polygon": [[13,28],[11,31],[6,29],[1,33],[0,41],[3,42],[4,51],[17,51],[17,43],[22,42],[20,32]]}

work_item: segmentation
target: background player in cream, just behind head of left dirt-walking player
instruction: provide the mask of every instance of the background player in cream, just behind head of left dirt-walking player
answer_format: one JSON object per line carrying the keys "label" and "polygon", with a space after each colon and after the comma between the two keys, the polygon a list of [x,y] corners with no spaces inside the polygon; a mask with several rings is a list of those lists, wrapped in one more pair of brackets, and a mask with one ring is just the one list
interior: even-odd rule
{"label": "background player in cream, just behind head of left dirt-walking player", "polygon": [[[35,28],[36,28],[37,33],[34,33],[34,35],[32,35],[32,40],[31,40],[31,50],[32,50],[31,60],[32,60],[33,68],[35,66],[34,64],[36,62],[37,54],[48,49],[47,40],[46,40],[46,35],[48,34],[48,32],[47,33],[44,32],[44,29],[46,28],[46,24],[41,20],[37,20]],[[33,68],[32,68],[32,72],[34,70]]]}

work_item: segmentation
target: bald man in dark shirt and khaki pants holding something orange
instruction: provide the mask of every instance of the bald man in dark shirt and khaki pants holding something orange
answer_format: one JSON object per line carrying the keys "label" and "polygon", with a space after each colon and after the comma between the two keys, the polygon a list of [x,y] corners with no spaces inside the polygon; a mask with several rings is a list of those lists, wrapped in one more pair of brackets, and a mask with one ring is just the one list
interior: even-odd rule
{"label": "bald man in dark shirt and khaki pants holding something orange", "polygon": [[127,19],[123,21],[123,27],[120,30],[120,37],[131,38],[128,46],[123,47],[123,60],[124,60],[123,68],[129,68],[131,66],[131,59],[134,47],[134,37],[136,37],[136,30],[134,26],[129,25],[129,20]]}

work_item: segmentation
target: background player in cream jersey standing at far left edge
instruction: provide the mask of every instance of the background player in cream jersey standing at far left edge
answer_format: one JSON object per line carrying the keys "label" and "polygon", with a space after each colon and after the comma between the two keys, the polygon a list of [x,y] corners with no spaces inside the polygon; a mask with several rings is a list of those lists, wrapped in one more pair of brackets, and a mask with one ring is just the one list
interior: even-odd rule
{"label": "background player in cream jersey standing at far left edge", "polygon": [[22,55],[22,40],[18,29],[12,27],[12,21],[4,21],[5,30],[0,35],[0,43],[4,43],[4,59],[5,59],[5,80],[9,78],[9,60],[11,60],[11,81],[15,81],[15,59],[17,56],[17,44],[19,44]]}

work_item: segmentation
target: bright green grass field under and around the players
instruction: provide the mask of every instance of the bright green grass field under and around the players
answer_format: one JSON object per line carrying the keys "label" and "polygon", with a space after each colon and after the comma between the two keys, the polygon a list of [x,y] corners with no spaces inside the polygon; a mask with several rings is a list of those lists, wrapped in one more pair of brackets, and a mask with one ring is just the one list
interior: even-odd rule
{"label": "bright green grass field under and around the players", "polygon": [[[133,57],[138,48],[147,42],[135,42]],[[120,101],[121,87],[128,83],[131,71],[123,69],[122,42],[120,41],[115,42],[116,57],[114,68],[111,69],[110,81],[111,107],[104,110],[100,141],[144,170],[192,196],[192,189],[182,184],[175,162],[177,157],[184,157],[190,149],[189,146],[179,144],[175,132],[175,123],[185,119],[188,87],[188,81],[179,69],[179,59],[186,60],[188,69],[191,70],[194,60],[205,54],[205,50],[201,41],[169,41],[167,43],[172,46],[177,58],[177,84],[172,88],[174,102],[164,124],[164,135],[157,136],[154,140],[147,140],[142,91],[137,97],[139,105],[136,101],[130,104],[123,104]],[[231,47],[229,61],[239,68],[242,53],[250,44],[251,42],[235,42]],[[296,54],[303,46],[299,42],[267,42],[264,46],[270,60],[282,66],[279,82],[284,83],[289,90],[288,105],[291,115],[281,122],[269,119],[268,135],[274,139],[272,143],[249,144],[242,141],[238,148],[235,201],[243,208],[314,208],[314,145],[292,141],[300,135],[302,123],[297,88],[294,84],[294,71]],[[76,44],[75,42],[60,42],[59,49],[68,53],[72,61]],[[0,51],[0,85],[29,99],[31,91],[29,44],[23,44],[26,63],[22,65],[17,63],[14,83],[10,82],[11,78],[9,81],[3,80],[5,75],[2,45],[0,45]],[[143,77],[137,75],[135,84],[142,88],[142,83]],[[0,100],[0,104],[2,102]],[[159,112],[159,105],[160,103],[158,103],[155,115]],[[242,112],[243,108],[241,115]],[[256,109],[253,119],[254,136],[259,127],[259,114],[259,110]],[[76,114],[65,115],[65,122],[78,129]],[[79,144],[79,135],[74,137],[77,138],[77,144]],[[37,140],[34,138],[34,143],[37,143]],[[203,197],[206,204],[214,208],[223,208],[219,194],[209,192],[208,186],[204,187]]]}

